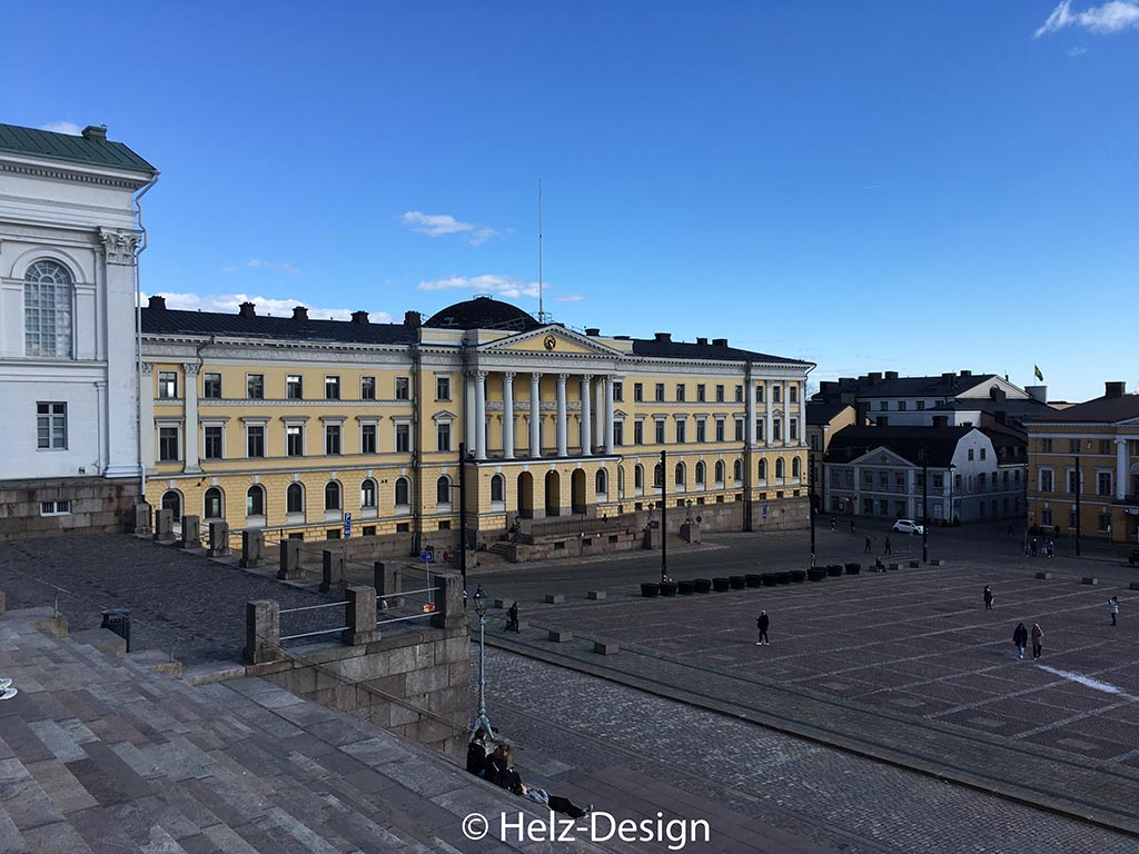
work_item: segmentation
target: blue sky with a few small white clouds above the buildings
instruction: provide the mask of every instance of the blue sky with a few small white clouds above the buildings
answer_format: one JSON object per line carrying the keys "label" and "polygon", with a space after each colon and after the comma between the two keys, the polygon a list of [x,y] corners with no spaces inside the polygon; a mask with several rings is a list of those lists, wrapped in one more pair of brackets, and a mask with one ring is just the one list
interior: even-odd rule
{"label": "blue sky with a few small white clouds above the buildings", "polygon": [[[172,305],[571,327],[1139,383],[1139,0],[6,8],[0,121],[162,171]],[[320,311],[317,312],[320,314]]]}

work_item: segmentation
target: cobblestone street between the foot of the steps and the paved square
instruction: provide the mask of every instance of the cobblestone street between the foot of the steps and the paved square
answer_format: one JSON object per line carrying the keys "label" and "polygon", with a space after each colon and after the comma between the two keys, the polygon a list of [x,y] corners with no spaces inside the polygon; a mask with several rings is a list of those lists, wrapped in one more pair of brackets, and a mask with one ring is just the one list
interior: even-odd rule
{"label": "cobblestone street between the foot of the steps and the paved square", "polygon": [[[715,845],[686,851],[719,849],[718,828],[744,821],[785,835],[753,848],[763,852],[1137,849],[1131,837],[503,650],[487,650],[486,693],[524,778],[618,818],[653,806],[706,815]],[[654,804],[659,783],[689,797]]]}

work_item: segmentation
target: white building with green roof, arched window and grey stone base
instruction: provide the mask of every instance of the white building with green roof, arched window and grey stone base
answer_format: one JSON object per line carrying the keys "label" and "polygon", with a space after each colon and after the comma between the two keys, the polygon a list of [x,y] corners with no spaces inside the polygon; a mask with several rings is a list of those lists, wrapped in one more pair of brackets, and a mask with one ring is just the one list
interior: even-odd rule
{"label": "white building with green roof, arched window and grey stone base", "polygon": [[106,129],[0,125],[0,536],[110,528],[139,488],[137,199]]}

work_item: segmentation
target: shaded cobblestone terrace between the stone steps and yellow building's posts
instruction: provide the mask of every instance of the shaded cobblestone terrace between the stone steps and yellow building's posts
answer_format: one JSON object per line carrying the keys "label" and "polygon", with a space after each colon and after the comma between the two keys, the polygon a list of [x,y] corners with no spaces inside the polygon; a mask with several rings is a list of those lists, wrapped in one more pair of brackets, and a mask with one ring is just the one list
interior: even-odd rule
{"label": "shaded cobblestone terrace between the stone steps and yellow building's posts", "polygon": [[[245,646],[245,603],[282,608],[342,599],[124,534],[74,534],[0,543],[0,591],[9,608],[50,606],[72,631],[96,629],[101,611],[131,609],[131,649],[157,649],[185,664],[236,660]],[[63,592],[60,592],[63,591]],[[281,617],[282,634],[343,625],[335,608]]]}

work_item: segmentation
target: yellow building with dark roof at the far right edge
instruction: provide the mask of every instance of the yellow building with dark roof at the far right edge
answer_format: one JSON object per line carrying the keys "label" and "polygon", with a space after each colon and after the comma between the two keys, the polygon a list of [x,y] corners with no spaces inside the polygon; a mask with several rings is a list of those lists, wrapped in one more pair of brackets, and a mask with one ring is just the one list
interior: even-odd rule
{"label": "yellow building with dark roof at the far right edge", "polygon": [[1139,394],[1107,383],[1104,396],[1026,428],[1030,525],[1139,544]]}

